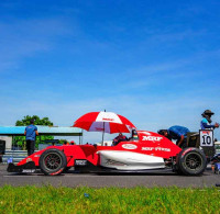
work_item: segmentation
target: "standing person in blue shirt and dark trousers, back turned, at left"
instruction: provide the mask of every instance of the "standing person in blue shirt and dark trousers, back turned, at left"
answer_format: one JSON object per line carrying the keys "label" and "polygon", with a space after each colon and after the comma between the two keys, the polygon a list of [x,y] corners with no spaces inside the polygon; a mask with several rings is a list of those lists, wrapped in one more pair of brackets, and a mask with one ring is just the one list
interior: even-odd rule
{"label": "standing person in blue shirt and dark trousers, back turned, at left", "polygon": [[28,155],[34,154],[35,138],[38,135],[37,127],[34,125],[34,120],[31,120],[31,124],[25,127],[24,135],[26,138]]}

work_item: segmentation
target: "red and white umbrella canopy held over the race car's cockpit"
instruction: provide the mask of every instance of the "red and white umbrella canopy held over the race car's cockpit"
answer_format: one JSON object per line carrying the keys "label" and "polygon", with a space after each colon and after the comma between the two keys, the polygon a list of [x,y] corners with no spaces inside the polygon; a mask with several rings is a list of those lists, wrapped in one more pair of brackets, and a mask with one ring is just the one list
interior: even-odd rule
{"label": "red and white umbrella canopy held over the race car's cockpit", "polygon": [[109,134],[130,133],[130,128],[136,128],[128,119],[113,112],[87,113],[74,123],[74,127]]}

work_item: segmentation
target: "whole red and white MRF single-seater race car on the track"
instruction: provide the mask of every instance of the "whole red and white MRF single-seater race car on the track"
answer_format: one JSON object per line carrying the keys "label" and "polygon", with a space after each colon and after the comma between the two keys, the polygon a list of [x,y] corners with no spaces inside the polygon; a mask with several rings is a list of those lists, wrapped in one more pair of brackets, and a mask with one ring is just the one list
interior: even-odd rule
{"label": "whole red and white MRF single-seater race car on the track", "polygon": [[64,145],[50,146],[16,166],[9,164],[9,172],[30,173],[36,169],[46,176],[61,174],[74,167],[77,172],[162,172],[199,176],[207,166],[202,150],[179,148],[166,137],[147,131],[136,131],[138,137],[116,146]]}

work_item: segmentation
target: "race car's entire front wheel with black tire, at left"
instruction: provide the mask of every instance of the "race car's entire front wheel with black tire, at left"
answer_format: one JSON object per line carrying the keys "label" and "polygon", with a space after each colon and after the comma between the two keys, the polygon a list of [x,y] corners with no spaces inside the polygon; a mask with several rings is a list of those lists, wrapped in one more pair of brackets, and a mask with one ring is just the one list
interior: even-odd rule
{"label": "race car's entire front wheel with black tire, at left", "polygon": [[38,164],[44,174],[57,176],[61,174],[66,168],[67,160],[62,150],[51,148],[41,155]]}

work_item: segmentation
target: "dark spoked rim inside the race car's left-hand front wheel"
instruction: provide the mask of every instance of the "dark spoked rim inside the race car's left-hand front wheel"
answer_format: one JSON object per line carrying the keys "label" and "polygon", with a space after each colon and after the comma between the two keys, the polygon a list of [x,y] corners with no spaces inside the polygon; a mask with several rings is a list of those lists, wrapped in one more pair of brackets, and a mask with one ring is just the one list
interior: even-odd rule
{"label": "dark spoked rim inside the race car's left-hand front wheel", "polygon": [[45,156],[44,166],[48,171],[59,169],[62,166],[62,157],[58,154],[51,153]]}

